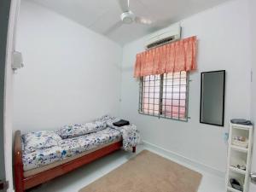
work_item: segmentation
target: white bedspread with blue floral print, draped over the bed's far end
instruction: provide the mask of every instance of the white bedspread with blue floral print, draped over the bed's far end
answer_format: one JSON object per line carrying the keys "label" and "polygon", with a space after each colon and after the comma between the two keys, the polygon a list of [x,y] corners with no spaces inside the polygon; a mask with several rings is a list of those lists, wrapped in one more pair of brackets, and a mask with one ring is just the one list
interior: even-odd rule
{"label": "white bedspread with blue floral print, draped over the bed's far end", "polygon": [[[73,157],[76,154],[81,154],[84,151],[97,148],[103,144],[120,140],[121,137],[123,138],[123,148],[126,151],[131,151],[132,147],[137,146],[137,143],[140,141],[140,134],[139,131],[137,131],[136,125],[131,124],[122,127],[114,126],[113,122],[119,121],[119,119],[108,115],[105,115],[100,119],[96,119],[96,121],[102,122],[102,125],[107,124],[107,128],[79,137],[70,137],[65,139],[61,139],[61,137],[60,139],[57,139],[54,133],[50,131],[49,139],[39,138],[39,140],[43,141],[44,144],[39,143],[38,146],[47,146],[46,148],[34,148],[34,146],[32,146],[32,143],[38,143],[38,132],[32,132],[32,134],[36,135],[35,138],[37,142],[33,142],[33,139],[35,139],[33,136],[26,137],[28,134],[23,135],[22,160],[24,171],[45,166],[58,160],[65,160],[68,157]],[[77,127],[75,128],[77,129]],[[55,133],[58,134],[58,131],[55,131]],[[47,131],[44,131],[44,137],[47,137],[47,134]],[[31,141],[30,145],[24,141],[24,138],[32,138],[29,140]],[[52,146],[48,146],[50,139],[54,139],[57,144],[55,143]]]}

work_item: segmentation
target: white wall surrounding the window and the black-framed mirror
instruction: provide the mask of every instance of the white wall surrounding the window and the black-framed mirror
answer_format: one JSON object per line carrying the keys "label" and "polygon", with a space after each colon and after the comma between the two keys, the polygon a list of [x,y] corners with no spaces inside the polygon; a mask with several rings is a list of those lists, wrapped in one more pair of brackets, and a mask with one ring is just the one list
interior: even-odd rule
{"label": "white wall surrounding the window and the black-framed mirror", "polygon": [[[181,22],[183,38],[196,35],[198,71],[191,73],[188,123],[137,113],[138,81],[133,79],[135,55],[147,37],[123,50],[121,113],[142,132],[143,140],[224,172],[224,131],[232,118],[250,117],[250,44],[247,1],[235,0],[193,15]],[[203,125],[200,118],[200,73],[225,69],[225,128]]]}

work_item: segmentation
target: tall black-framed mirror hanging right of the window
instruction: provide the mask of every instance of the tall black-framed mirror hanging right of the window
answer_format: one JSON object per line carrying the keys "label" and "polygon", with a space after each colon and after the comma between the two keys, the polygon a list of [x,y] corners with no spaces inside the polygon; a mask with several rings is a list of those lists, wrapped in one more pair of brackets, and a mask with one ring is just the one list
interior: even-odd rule
{"label": "tall black-framed mirror hanging right of the window", "polygon": [[225,70],[201,73],[200,122],[224,126]]}

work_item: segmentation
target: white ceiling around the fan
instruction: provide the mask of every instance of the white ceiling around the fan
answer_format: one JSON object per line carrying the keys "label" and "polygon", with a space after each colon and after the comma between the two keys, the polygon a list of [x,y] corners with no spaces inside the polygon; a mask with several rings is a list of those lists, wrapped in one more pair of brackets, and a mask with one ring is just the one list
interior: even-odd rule
{"label": "white ceiling around the fan", "polygon": [[169,26],[189,15],[194,15],[228,0],[131,0],[130,9],[135,15],[157,21],[150,26],[137,23],[123,24],[113,32],[109,32],[109,29],[119,22],[122,13],[118,0],[32,1],[124,45],[149,32]]}

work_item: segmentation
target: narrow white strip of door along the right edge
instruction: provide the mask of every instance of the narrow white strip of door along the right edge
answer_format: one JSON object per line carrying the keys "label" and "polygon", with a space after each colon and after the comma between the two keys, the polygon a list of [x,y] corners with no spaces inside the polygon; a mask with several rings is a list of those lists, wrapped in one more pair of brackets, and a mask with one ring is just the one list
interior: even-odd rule
{"label": "narrow white strip of door along the right edge", "polygon": [[[250,8],[250,25],[251,25],[251,35],[252,35],[252,71],[253,71],[253,82],[252,82],[252,94],[251,94],[251,103],[252,103],[252,120],[254,123],[254,146],[253,146],[253,166],[252,166],[252,172],[256,172],[256,131],[255,131],[255,125],[256,125],[256,1],[255,0],[249,0],[249,8]],[[251,192],[256,191],[256,184],[251,184]]]}

